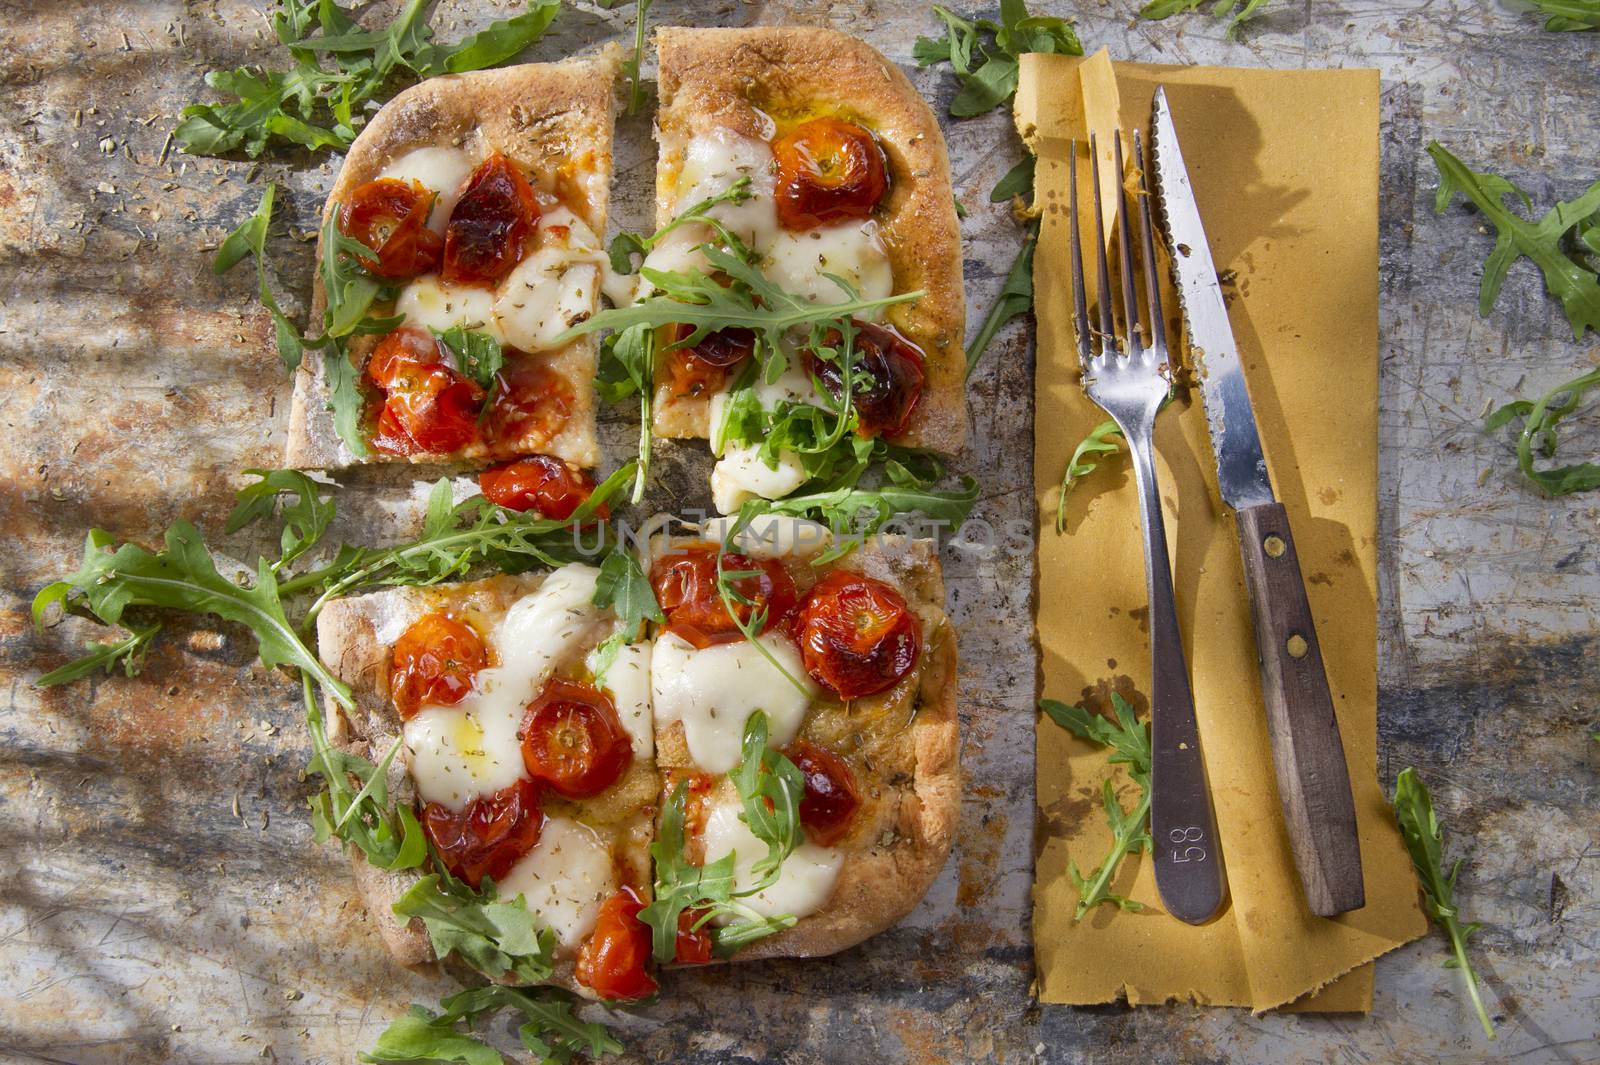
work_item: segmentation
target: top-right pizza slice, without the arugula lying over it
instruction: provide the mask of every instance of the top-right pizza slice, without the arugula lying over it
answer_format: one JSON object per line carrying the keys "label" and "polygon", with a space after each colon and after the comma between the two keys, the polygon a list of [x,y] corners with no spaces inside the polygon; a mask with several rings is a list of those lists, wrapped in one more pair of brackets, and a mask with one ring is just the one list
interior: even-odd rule
{"label": "top-right pizza slice, without the arugula lying over it", "polygon": [[[960,224],[926,101],[872,46],[834,30],[662,29],[658,46],[658,224],[746,182],[739,201],[718,203],[707,217],[742,241],[782,291],[816,304],[920,291],[853,321],[854,432],[960,449]],[[702,222],[678,225],[642,265],[702,265],[699,246],[718,237]],[[786,353],[781,374],[752,374],[754,339],[749,329],[718,329],[691,347],[669,345],[656,363],[654,432],[712,441],[712,494],[723,513],[755,496],[786,496],[808,477],[795,454],[760,457],[762,440],[730,432],[730,409],[814,405],[818,389],[834,400],[846,390],[838,366],[803,345]]]}

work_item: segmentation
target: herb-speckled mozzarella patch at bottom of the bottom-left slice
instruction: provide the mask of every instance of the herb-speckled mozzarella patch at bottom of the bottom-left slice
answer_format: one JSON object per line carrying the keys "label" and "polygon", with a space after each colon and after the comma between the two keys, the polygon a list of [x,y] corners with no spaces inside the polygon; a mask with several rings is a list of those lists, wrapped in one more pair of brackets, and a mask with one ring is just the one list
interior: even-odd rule
{"label": "herb-speckled mozzarella patch at bottom of the bottom-left slice", "polygon": [[616,891],[611,851],[589,825],[549,817],[539,843],[494,889],[501,899],[522,895],[528,910],[555,932],[557,947],[571,953],[594,931],[600,903]]}

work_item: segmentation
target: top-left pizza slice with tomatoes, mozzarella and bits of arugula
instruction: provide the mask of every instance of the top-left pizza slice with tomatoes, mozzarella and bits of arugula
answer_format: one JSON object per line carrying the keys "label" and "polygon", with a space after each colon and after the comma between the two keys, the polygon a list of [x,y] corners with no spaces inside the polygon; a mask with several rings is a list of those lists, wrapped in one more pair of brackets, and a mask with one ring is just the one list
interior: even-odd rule
{"label": "top-left pizza slice with tomatoes, mozzarella and bits of arugula", "polygon": [[595,342],[557,337],[597,307],[618,62],[430,78],[366,125],[318,243],[339,342],[296,374],[288,465],[597,464]]}

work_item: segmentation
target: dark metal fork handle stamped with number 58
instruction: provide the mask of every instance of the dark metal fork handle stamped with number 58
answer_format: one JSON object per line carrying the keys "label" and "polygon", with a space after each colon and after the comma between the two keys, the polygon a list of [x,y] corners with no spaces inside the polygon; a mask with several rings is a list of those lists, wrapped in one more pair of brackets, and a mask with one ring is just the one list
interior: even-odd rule
{"label": "dark metal fork handle stamped with number 58", "polygon": [[1150,840],[1155,886],[1166,911],[1203,924],[1222,907],[1222,851],[1211,814],[1189,667],[1178,630],[1166,523],[1149,437],[1130,438],[1144,526],[1144,572],[1150,593]]}

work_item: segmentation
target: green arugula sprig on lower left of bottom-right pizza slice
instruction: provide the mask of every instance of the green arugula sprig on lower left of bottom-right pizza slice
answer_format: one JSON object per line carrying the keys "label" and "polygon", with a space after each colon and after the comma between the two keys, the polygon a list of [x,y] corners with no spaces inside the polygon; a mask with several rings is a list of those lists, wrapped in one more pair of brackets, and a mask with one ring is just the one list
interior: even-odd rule
{"label": "green arugula sprig on lower left of bottom-right pizza slice", "polygon": [[[688,782],[680,780],[667,800],[661,828],[650,844],[650,857],[656,867],[654,900],[638,913],[638,919],[651,929],[651,953],[662,964],[677,955],[678,915],[683,911],[696,915],[696,931],[710,927],[718,956],[728,956],[795,923],[789,915],[765,916],[746,902],[778,883],[784,860],[800,843],[798,800],[805,782],[792,761],[768,747],[766,737],[766,713],[757,710],[744,723],[741,761],[730,774],[744,804],[741,819],[766,844],[766,854],[752,865],[757,881],[749,888],[734,884],[738,852],[704,865],[694,865],[685,857]],[[720,918],[730,921],[715,924]]]}

